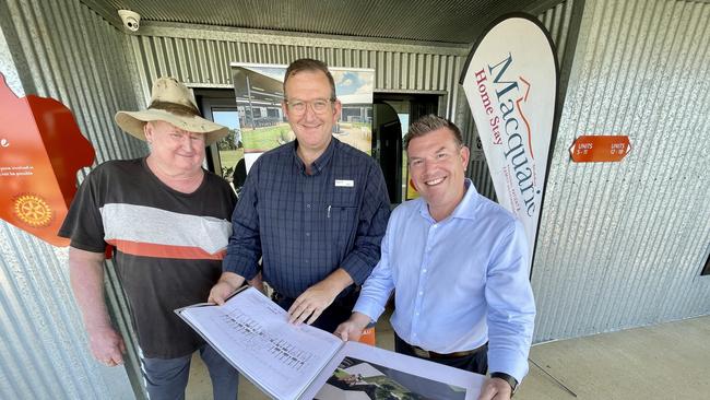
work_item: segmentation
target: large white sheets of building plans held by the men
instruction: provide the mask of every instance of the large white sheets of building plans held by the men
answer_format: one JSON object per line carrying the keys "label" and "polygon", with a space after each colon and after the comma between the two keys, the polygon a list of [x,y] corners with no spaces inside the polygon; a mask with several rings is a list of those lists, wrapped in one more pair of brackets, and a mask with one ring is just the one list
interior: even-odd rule
{"label": "large white sheets of building plans held by the men", "polygon": [[291,325],[286,311],[253,287],[223,306],[198,304],[176,313],[275,399],[465,400],[476,398],[484,380],[482,375],[343,342],[308,325]]}

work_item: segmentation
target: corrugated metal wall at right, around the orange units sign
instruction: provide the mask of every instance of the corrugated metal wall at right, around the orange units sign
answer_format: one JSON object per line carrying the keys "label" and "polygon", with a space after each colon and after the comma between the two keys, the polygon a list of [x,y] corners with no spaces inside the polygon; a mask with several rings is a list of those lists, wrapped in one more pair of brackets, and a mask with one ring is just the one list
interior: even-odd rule
{"label": "corrugated metal wall at right, around the orange units sign", "polygon": [[[542,213],[535,341],[710,314],[710,3],[587,0]],[[577,164],[580,134],[627,134]]]}

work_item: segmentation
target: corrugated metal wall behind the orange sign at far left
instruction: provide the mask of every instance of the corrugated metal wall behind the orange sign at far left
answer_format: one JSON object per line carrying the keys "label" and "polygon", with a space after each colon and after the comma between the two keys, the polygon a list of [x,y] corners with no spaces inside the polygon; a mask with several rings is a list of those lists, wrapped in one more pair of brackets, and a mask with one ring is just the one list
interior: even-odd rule
{"label": "corrugated metal wall behind the orange sign at far left", "polygon": [[[19,77],[25,93],[69,106],[98,162],[145,153],[113,121],[117,109],[137,109],[139,103],[122,33],[75,0],[8,0],[0,14],[10,50],[2,52],[3,72]],[[0,398],[133,397],[126,369],[104,367],[88,353],[66,248],[0,221]],[[109,302],[120,314],[125,302],[113,287]],[[137,368],[133,358],[133,379]]]}

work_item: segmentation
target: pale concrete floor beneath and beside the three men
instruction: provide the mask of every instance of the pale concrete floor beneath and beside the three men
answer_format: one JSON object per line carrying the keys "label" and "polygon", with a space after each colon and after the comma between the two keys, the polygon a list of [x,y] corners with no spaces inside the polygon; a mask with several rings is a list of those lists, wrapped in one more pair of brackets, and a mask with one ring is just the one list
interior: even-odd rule
{"label": "pale concrete floor beneath and beside the three men", "polygon": [[[387,319],[378,323],[377,341],[393,349]],[[530,362],[517,400],[710,399],[710,316],[537,344]],[[240,400],[269,399],[247,379],[239,385]],[[212,399],[199,356],[186,395]]]}

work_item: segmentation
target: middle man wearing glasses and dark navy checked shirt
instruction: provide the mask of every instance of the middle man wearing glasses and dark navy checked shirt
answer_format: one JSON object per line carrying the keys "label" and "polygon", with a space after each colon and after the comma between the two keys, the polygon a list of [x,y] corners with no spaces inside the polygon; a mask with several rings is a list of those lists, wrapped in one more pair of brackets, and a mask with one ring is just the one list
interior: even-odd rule
{"label": "middle man wearing glasses and dark navy checked shirt", "polygon": [[284,96],[296,140],[251,167],[210,301],[224,303],[262,272],[292,322],[332,332],[350,317],[355,285],[380,258],[389,198],[377,163],[332,137],[342,106],[323,62],[292,62]]}

